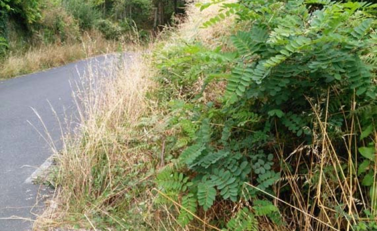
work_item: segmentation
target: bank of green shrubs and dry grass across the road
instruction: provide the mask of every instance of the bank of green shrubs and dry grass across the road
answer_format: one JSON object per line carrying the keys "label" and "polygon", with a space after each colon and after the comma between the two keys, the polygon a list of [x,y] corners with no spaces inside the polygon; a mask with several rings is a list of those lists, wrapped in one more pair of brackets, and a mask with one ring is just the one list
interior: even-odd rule
{"label": "bank of green shrubs and dry grass across the road", "polygon": [[[164,3],[159,5],[160,1]],[[177,0],[2,0],[0,67],[4,70],[0,70],[0,78],[89,55],[121,51],[130,43],[148,41],[159,26],[169,23],[172,15],[179,13],[175,8],[182,5]],[[91,53],[87,52],[87,46],[93,48]],[[64,52],[65,49],[77,52]],[[54,50],[63,53],[38,57],[36,54],[43,53],[40,50],[47,54]],[[34,56],[38,61],[23,61],[27,56]],[[50,61],[39,62],[44,58]]]}

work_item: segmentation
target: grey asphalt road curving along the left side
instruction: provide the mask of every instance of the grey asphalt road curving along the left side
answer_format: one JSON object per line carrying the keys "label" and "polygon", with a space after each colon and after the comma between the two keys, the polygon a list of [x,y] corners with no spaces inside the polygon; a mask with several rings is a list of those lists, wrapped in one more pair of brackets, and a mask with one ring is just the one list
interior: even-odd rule
{"label": "grey asphalt road curving along the left side", "polygon": [[40,186],[25,180],[51,156],[52,150],[36,131],[44,134],[32,108],[59,148],[61,129],[56,117],[61,121],[68,118],[69,123],[77,121],[70,82],[79,80],[88,64],[97,67],[97,76],[107,77],[103,69],[114,63],[114,57],[100,56],[0,81],[0,231],[29,231],[30,220],[40,211]]}

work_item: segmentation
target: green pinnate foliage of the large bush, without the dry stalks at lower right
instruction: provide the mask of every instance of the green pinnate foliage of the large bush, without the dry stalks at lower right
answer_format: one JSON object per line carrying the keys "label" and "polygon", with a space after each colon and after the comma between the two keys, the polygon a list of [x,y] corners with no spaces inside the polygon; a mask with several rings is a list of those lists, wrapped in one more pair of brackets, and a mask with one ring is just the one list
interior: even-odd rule
{"label": "green pinnate foliage of the large bush, without the dry stalks at lower right", "polygon": [[[312,4],[321,7],[313,8]],[[173,52],[168,50],[159,59],[161,75],[157,81],[163,90],[158,91],[158,97],[168,101],[173,115],[170,128],[178,127],[181,131],[179,138],[167,138],[172,144],[166,149],[179,152],[179,148],[190,144],[173,160],[176,167],[167,167],[157,178],[163,193],[173,199],[181,198],[185,207],[179,217],[182,225],[193,220],[187,210],[194,214],[211,208],[219,211],[220,205],[232,202],[240,203],[237,208],[250,207],[253,216],[249,217],[254,218],[254,203],[260,199],[260,205],[266,206],[263,216],[277,226],[284,225],[280,212],[268,204],[265,195],[275,194],[273,185],[281,180],[284,169],[307,174],[307,168],[282,165],[279,159],[288,158],[300,145],[313,147],[318,136],[330,137],[338,158],[348,159],[344,135],[349,134],[354,116],[358,116],[361,129],[353,132],[361,141],[350,144],[351,150],[365,149],[360,150],[362,157],[353,156],[349,161],[372,158],[376,147],[371,136],[377,116],[377,21],[366,12],[374,7],[368,3],[327,0],[228,3],[203,26],[221,23],[225,17],[236,14],[241,28],[249,29],[230,37],[234,51],[208,51],[200,45],[187,45]],[[218,80],[227,81],[224,94],[206,102],[200,93]],[[198,81],[204,82],[201,92],[194,91]],[[326,121],[326,134],[318,129],[322,121]],[[182,143],[181,139],[185,140],[183,145],[174,148]],[[370,146],[364,147],[364,139]],[[278,159],[275,153],[282,146],[283,156]],[[375,173],[372,165],[371,162],[364,167],[370,169],[368,174]],[[340,174],[335,168],[328,170],[329,175],[333,174],[331,171]],[[347,171],[352,175],[352,169]],[[366,174],[361,172],[361,179]],[[373,184],[372,177],[369,184],[363,185]],[[282,190],[291,195],[288,187]],[[377,194],[371,192],[368,188],[354,196],[370,198],[369,209],[376,211],[373,201]],[[336,203],[325,206],[339,211]],[[342,213],[334,216],[343,216]],[[234,220],[240,220],[239,216]],[[214,222],[222,227],[229,219],[214,217],[220,217],[220,221]],[[252,221],[240,223],[257,226],[257,220]],[[232,230],[237,226],[230,222],[228,227]]]}

